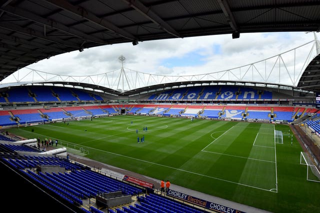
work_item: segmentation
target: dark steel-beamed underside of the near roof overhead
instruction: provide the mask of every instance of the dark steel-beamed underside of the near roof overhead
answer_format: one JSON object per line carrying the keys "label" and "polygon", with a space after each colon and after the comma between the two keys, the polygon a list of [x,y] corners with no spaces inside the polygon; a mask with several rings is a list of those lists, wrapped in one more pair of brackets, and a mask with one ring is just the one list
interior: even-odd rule
{"label": "dark steel-beamed underside of the near roof overhead", "polygon": [[101,45],[319,31],[319,11],[318,0],[2,0],[0,80],[39,60]]}

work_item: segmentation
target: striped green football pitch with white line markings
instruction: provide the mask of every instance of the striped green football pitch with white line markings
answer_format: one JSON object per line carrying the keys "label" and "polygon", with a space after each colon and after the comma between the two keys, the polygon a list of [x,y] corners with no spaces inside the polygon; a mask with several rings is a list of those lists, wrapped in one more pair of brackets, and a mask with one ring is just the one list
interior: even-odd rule
{"label": "striped green football pitch with white line markings", "polygon": [[306,180],[288,125],[126,115],[7,131],[58,139],[90,159],[270,212],[320,212],[320,183]]}

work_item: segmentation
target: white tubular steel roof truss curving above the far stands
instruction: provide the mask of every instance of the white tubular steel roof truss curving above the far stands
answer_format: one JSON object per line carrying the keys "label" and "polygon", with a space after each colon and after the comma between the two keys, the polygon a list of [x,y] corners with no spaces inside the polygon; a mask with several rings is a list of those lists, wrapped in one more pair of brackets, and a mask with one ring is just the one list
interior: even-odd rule
{"label": "white tubular steel roof truss curving above the far stands", "polygon": [[[275,56],[249,63],[233,69],[215,71],[198,75],[169,76],[138,72],[121,67],[96,75],[69,76],[22,68],[0,82],[0,87],[18,83],[74,82],[92,84],[113,90],[129,91],[137,88],[177,82],[190,81],[235,81],[260,82],[295,87],[309,62],[317,55],[317,40],[309,41],[296,48]],[[297,60],[299,59],[299,60]],[[201,70],[195,70],[199,73]]]}

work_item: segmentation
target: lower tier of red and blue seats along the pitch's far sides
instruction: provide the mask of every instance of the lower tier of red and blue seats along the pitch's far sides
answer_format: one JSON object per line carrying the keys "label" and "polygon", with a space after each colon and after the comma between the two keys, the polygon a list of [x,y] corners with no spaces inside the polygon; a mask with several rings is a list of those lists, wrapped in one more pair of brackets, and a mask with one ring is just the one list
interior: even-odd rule
{"label": "lower tier of red and blue seats along the pitch's far sides", "polygon": [[[242,105],[95,105],[77,107],[49,107],[0,111],[0,126],[43,124],[92,116],[120,114],[161,115],[175,117],[199,117],[207,119],[257,120],[267,122],[292,122],[298,118],[319,114],[317,109],[307,107],[271,107]],[[307,116],[307,117],[309,117]]]}

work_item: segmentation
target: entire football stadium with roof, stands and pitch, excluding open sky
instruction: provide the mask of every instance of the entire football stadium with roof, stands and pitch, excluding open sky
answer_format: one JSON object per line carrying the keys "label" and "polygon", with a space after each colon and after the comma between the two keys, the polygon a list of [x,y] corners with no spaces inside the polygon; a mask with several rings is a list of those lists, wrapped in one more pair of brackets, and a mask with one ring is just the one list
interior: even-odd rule
{"label": "entire football stadium with roof, stands and pitch, excluding open sky", "polygon": [[[316,0],[1,2],[3,208],[320,212],[318,11]],[[102,74],[28,67],[111,44],[294,31],[314,39],[210,73],[135,71],[124,54]]]}

